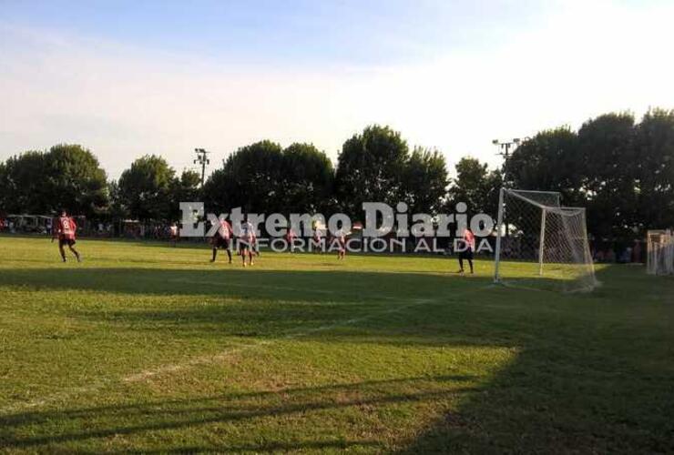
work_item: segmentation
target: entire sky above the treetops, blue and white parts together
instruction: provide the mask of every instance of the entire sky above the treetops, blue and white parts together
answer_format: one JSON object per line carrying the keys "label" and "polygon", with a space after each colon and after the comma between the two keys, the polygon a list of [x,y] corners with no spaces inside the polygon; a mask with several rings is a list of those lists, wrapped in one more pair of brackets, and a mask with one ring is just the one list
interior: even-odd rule
{"label": "entire sky above the treetops, blue and white parts together", "polygon": [[648,0],[0,0],[0,160],[77,143],[117,178],[270,139],[336,162],[380,124],[495,167],[495,138],[674,108],[672,17]]}

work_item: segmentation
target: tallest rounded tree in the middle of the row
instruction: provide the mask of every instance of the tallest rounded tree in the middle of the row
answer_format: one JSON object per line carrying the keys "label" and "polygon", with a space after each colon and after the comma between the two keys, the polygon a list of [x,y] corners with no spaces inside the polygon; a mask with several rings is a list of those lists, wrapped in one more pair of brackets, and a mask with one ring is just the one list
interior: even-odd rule
{"label": "tallest rounded tree in the middle of the row", "polygon": [[342,147],[335,177],[336,196],[342,211],[359,219],[363,202],[395,206],[402,200],[407,143],[388,126],[368,126]]}

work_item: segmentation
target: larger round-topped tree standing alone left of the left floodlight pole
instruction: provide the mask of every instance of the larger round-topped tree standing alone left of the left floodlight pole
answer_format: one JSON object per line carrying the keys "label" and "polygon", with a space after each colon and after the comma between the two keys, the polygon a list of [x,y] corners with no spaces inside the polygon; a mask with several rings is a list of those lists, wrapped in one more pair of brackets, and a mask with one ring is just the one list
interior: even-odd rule
{"label": "larger round-topped tree standing alone left of the left floodlight pole", "polygon": [[168,219],[173,210],[175,171],[154,155],[140,157],[119,177],[119,198],[131,217]]}

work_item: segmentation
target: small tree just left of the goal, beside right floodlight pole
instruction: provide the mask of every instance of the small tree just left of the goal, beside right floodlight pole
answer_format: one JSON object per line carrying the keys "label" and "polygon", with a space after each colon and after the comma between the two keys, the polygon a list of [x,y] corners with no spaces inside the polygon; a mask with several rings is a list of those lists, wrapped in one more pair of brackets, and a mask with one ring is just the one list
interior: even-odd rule
{"label": "small tree just left of the goal, beside right floodlight pole", "polygon": [[467,205],[468,214],[486,213],[496,217],[501,174],[490,171],[486,164],[473,157],[463,157],[456,163],[456,177],[448,191],[447,211],[454,212],[456,204]]}

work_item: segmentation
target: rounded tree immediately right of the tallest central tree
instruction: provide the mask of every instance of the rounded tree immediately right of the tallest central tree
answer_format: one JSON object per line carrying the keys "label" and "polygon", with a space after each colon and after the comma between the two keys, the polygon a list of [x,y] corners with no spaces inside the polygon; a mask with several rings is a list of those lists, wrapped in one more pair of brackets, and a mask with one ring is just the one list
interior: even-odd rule
{"label": "rounded tree immediately right of the tallest central tree", "polygon": [[449,178],[444,156],[437,150],[414,147],[406,160],[401,186],[408,213],[437,213],[443,205]]}

